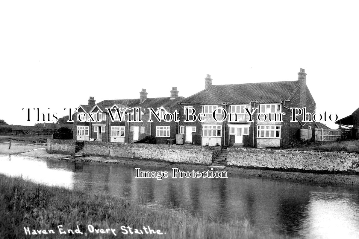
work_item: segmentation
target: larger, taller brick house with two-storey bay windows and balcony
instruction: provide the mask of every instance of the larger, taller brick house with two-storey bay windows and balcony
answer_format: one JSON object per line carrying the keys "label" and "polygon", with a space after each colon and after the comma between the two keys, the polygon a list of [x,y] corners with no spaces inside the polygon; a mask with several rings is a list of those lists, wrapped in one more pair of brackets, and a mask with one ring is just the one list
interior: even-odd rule
{"label": "larger, taller brick house with two-storey bay windows and balcony", "polygon": [[[185,134],[185,142],[195,145],[229,145],[244,147],[279,147],[298,138],[299,129],[314,129],[314,123],[290,122],[290,107],[306,107],[313,113],[316,103],[306,84],[306,73],[300,68],[298,80],[243,83],[232,85],[212,85],[210,75],[205,78],[205,89],[180,102],[180,133]],[[192,107],[205,113],[206,121],[201,123],[183,122],[184,108]],[[223,107],[228,113],[237,115],[237,120],[224,120],[222,123],[213,119],[212,113],[217,107]],[[245,108],[258,107],[259,113],[267,118],[271,115],[283,115],[283,122],[259,121],[258,111],[254,121],[250,122]],[[217,111],[217,119],[223,119],[223,112]],[[261,119],[265,117],[261,116]],[[313,130],[314,131],[314,130]]]}

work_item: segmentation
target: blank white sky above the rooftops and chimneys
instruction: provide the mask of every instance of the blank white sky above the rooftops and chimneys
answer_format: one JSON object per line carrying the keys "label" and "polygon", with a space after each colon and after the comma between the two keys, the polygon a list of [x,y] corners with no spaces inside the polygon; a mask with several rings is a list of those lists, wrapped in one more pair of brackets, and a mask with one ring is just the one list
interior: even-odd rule
{"label": "blank white sky above the rooftops and chimneys", "polygon": [[[188,97],[213,85],[298,80],[317,113],[359,107],[355,1],[1,1],[0,119],[106,99]],[[48,110],[50,108],[50,110]],[[54,118],[51,117],[52,121]],[[337,128],[332,122],[324,122]],[[40,122],[41,123],[41,122]]]}

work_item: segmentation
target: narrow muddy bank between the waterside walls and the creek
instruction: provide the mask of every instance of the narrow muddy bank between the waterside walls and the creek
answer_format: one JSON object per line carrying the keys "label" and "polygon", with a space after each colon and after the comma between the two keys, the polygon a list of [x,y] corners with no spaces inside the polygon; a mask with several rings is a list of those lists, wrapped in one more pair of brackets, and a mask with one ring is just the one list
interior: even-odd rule
{"label": "narrow muddy bank between the waterside walls and the creek", "polygon": [[[46,152],[46,149],[40,145],[24,145],[13,144],[11,150],[8,150],[8,144],[0,144],[0,154],[18,154],[21,156],[31,156],[37,158],[51,158],[51,159],[64,159],[67,155],[63,154],[50,154]],[[24,152],[24,153],[22,153]],[[148,168],[153,170],[172,170],[172,168],[179,168],[182,171],[206,171],[208,167],[205,165],[196,164],[182,164],[182,163],[169,163],[160,161],[150,161],[133,158],[106,158],[90,156],[86,158],[72,159],[74,161],[89,161],[89,162],[103,162],[103,163],[118,163],[128,166]],[[347,185],[359,185],[359,176],[353,175],[333,175],[333,174],[319,174],[319,173],[301,173],[301,172],[283,172],[273,170],[262,169],[248,169],[227,167],[223,169],[227,171],[228,175],[238,176],[256,176],[263,178],[271,178],[275,180],[290,180],[297,182],[308,182],[320,185],[333,185],[333,184],[347,184]]]}

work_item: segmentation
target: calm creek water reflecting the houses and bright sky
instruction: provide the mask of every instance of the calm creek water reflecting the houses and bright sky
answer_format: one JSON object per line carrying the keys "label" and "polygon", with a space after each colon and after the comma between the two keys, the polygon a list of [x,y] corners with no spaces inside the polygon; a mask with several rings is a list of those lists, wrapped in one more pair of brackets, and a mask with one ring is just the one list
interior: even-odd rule
{"label": "calm creek water reflecting the houses and bright sky", "polygon": [[171,178],[172,172],[162,180],[135,178],[135,167],[120,164],[19,155],[0,156],[0,165],[5,175],[186,210],[219,223],[247,219],[253,228],[289,238],[359,238],[359,188],[354,186],[230,175]]}

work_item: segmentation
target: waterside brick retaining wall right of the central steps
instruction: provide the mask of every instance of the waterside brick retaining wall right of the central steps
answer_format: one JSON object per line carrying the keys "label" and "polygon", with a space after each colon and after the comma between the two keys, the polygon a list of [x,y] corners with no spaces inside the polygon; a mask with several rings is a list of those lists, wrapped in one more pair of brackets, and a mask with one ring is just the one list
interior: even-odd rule
{"label": "waterside brick retaining wall right of the central steps", "polygon": [[354,152],[233,147],[228,147],[227,150],[227,164],[233,166],[285,171],[359,173],[359,155]]}

